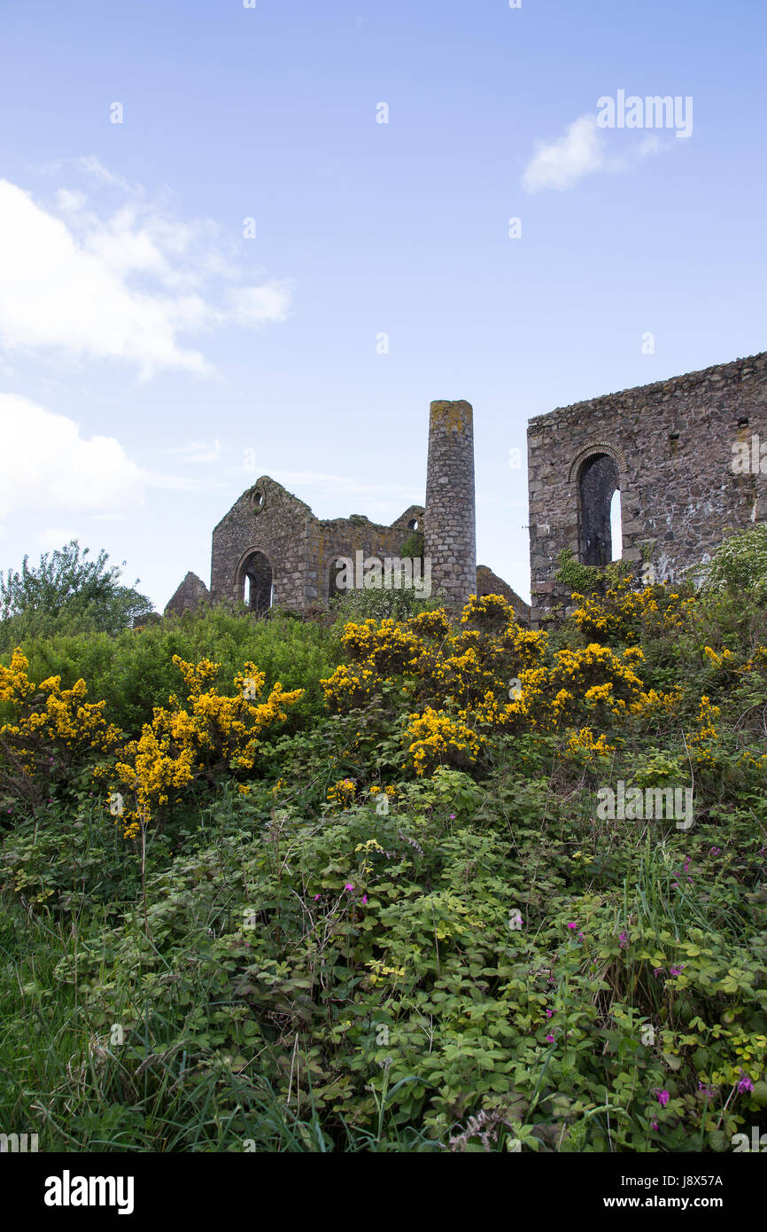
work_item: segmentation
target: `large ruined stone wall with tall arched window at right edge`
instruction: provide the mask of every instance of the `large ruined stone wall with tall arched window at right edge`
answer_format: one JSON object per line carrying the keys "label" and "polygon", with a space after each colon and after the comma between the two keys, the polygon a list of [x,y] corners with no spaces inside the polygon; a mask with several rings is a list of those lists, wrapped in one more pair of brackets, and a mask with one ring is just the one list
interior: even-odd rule
{"label": "large ruined stone wall with tall arched window at right edge", "polygon": [[[733,469],[739,442],[756,456],[742,474]],[[554,580],[560,551],[585,559],[586,540],[602,533],[611,472],[620,490],[623,558],[638,570],[644,558],[659,580],[673,580],[726,535],[767,520],[767,448],[765,473],[758,461],[767,446],[767,352],[538,415],[527,446],[536,627],[569,599]],[[612,463],[591,468],[600,455]],[[596,505],[584,508],[590,501]],[[619,554],[613,546],[613,558]]]}

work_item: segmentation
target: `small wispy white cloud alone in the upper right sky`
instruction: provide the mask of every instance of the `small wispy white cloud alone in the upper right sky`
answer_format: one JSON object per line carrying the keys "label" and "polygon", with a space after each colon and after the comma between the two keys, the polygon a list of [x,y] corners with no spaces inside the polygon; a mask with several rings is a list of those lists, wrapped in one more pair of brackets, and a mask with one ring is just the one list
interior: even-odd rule
{"label": "small wispy white cloud alone in the upper right sky", "polygon": [[571,188],[585,175],[595,171],[624,171],[640,158],[656,154],[662,148],[656,133],[645,133],[628,152],[608,154],[608,136],[597,126],[596,113],[574,120],[563,137],[536,142],[536,153],[522,175],[527,192],[542,188]]}

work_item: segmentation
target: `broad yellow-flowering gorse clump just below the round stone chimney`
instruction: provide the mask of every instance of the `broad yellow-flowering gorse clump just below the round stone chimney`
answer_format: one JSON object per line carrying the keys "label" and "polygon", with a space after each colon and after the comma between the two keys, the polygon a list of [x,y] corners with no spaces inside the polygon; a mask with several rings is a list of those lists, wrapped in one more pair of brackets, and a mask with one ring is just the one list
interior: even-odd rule
{"label": "broad yellow-flowering gorse clump just below the round stone chimney", "polygon": [[[644,591],[616,591],[618,599],[627,620],[650,607]],[[602,611],[596,601],[584,610],[593,621]],[[549,657],[547,633],[521,628],[501,595],[470,599],[457,631],[444,611],[421,612],[401,623],[352,622],[342,644],[350,662],[321,681],[326,705],[348,715],[387,690],[415,702],[403,740],[405,763],[419,776],[442,764],[474,764],[494,732],[582,733],[584,719],[591,731],[600,719],[669,715],[680,699],[678,690],[645,691],[636,646],[618,653],[595,641]],[[595,738],[592,753],[609,750],[603,739]]]}

